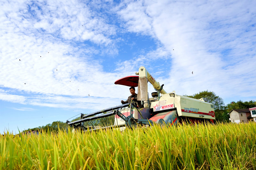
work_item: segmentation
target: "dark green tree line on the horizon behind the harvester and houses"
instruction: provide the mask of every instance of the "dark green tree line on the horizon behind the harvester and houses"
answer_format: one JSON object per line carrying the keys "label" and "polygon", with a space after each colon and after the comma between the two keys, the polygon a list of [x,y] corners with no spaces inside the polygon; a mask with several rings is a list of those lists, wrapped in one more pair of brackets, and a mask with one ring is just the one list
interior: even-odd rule
{"label": "dark green tree line on the horizon behind the harvester and houses", "polygon": [[[252,108],[256,107],[256,102],[251,100],[249,102],[243,102],[241,100],[235,102],[232,101],[229,104],[225,105],[224,100],[217,96],[215,92],[213,91],[200,91],[199,93],[193,94],[193,95],[184,95],[186,97],[191,97],[195,99],[200,99],[203,98],[205,102],[212,103],[214,107],[214,112],[215,112],[215,122],[229,122],[229,116],[228,113],[232,109],[245,109],[245,108]],[[79,118],[76,118],[77,120]],[[75,120],[76,120],[75,119]],[[62,121],[54,121],[52,123],[49,123],[45,126],[39,126],[37,128],[31,128],[24,130],[23,132],[26,131],[34,131],[34,130],[44,130],[45,132],[58,132],[60,130],[67,130],[67,124],[62,122]]]}

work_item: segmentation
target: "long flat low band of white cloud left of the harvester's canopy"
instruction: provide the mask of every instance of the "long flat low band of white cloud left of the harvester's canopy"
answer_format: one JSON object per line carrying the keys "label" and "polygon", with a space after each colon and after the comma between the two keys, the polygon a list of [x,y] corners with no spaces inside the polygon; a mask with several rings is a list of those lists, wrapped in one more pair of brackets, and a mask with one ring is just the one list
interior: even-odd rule
{"label": "long flat low band of white cloud left of the harvester's canopy", "polygon": [[[116,91],[119,91],[116,89]],[[128,94],[128,90],[127,94]],[[110,97],[93,97],[92,94],[84,97],[78,96],[56,96],[56,95],[36,95],[36,96],[20,96],[20,95],[10,95],[10,94],[1,94],[0,100],[8,101],[17,104],[28,104],[33,106],[46,106],[53,108],[68,108],[68,109],[86,109],[86,110],[101,110],[103,108],[108,108],[113,105],[120,105],[120,99]],[[125,95],[124,98],[127,98]],[[33,108],[13,107],[14,110],[19,111],[35,111]]]}

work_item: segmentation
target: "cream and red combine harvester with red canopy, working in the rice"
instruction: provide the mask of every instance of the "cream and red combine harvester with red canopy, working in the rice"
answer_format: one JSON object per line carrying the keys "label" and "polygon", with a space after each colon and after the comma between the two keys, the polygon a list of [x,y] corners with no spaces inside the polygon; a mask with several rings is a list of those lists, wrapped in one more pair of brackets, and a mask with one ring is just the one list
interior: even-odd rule
{"label": "cream and red combine harvester with red canopy, working in the rice", "polygon": [[[68,121],[70,127],[80,130],[97,130],[104,128],[135,128],[137,125],[151,126],[156,124],[173,126],[178,122],[200,123],[215,120],[213,104],[201,99],[166,93],[163,86],[140,67],[139,76],[127,76],[115,82],[130,87],[138,87],[138,101],[122,104],[90,114],[82,114],[80,120]],[[156,92],[148,95],[148,81]],[[160,95],[161,94],[161,95]],[[123,130],[124,128],[120,128]]]}

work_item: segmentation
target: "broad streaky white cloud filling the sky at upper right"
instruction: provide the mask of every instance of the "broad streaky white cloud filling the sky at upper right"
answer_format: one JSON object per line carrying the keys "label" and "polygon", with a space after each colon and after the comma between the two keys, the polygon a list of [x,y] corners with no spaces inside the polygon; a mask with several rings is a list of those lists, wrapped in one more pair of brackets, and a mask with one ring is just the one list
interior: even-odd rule
{"label": "broad streaky white cloud filling the sky at upper right", "polygon": [[[255,81],[242,83],[255,77],[250,69],[244,69],[255,66],[256,32],[250,26],[255,2],[248,4],[250,7],[241,9],[245,3],[240,1],[137,1],[125,4],[118,14],[126,21],[129,31],[156,35],[171,52],[169,77],[162,80],[171,87],[168,91],[193,94],[210,89],[225,97],[247,95],[244,88],[255,85]],[[138,15],[134,14],[138,9]],[[150,21],[150,32],[146,30],[148,27],[137,29],[144,26],[143,19]],[[231,53],[223,54],[225,49]],[[255,96],[255,88],[251,92]]]}

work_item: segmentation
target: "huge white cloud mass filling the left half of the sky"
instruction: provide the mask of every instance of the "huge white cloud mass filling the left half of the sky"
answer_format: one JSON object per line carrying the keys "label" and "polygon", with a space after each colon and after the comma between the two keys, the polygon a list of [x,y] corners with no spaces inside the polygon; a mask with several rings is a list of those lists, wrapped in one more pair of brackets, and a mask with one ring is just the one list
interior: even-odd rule
{"label": "huge white cloud mass filling the left half of the sky", "polygon": [[[0,79],[3,88],[16,92],[1,93],[0,100],[88,109],[98,104],[107,106],[108,102],[96,100],[105,100],[102,97],[121,92],[113,88],[114,81],[119,78],[117,74],[105,73],[102,61],[92,58],[100,53],[99,50],[85,44],[69,44],[72,39],[73,43],[89,40],[106,46],[106,53],[116,53],[109,38],[116,34],[115,26],[93,16],[93,12],[81,3],[10,3],[17,8],[13,12],[4,10],[1,14],[0,41],[4,43],[0,45]],[[91,35],[88,37],[88,34]],[[85,102],[88,94],[91,98]]]}

